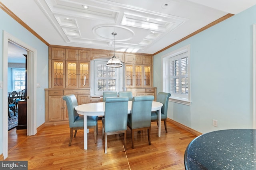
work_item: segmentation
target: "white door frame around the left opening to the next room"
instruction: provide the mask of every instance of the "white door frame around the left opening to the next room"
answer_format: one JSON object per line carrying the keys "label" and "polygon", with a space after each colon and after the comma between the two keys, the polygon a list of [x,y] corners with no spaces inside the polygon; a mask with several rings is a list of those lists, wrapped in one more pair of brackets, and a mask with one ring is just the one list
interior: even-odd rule
{"label": "white door frame around the left opening to the next room", "polygon": [[[8,69],[8,41],[26,49],[27,54],[27,86],[29,96],[27,102],[27,135],[36,134],[36,57],[37,51],[26,43],[20,41],[11,34],[3,31],[3,155],[4,159],[8,157],[8,102],[7,102],[7,69]],[[6,97],[5,97],[6,96]]]}

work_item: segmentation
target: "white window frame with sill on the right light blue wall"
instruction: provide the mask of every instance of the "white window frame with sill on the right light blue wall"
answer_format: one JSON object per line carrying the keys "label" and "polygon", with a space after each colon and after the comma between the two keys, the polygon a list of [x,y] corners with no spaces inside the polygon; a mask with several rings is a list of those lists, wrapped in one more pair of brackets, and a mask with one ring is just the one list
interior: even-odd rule
{"label": "white window frame with sill on the right light blue wall", "polygon": [[[162,56],[162,90],[170,93],[170,59],[183,58],[182,54],[187,53],[188,56],[188,95],[175,95],[171,93],[169,101],[191,106],[191,78],[190,78],[190,45],[186,45]],[[178,57],[180,55],[180,57]],[[181,86],[181,84],[180,84]]]}

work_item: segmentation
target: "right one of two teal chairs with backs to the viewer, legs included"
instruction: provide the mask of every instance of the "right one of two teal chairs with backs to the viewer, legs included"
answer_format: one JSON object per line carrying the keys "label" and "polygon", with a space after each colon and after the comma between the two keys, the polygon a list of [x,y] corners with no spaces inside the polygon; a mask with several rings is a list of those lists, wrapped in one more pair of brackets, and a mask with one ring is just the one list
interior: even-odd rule
{"label": "right one of two teal chairs with backs to the viewer, legs included", "polygon": [[134,131],[148,130],[148,144],[150,142],[151,108],[154,96],[134,96],[132,110],[128,115],[127,126],[132,130],[132,148],[134,149]]}

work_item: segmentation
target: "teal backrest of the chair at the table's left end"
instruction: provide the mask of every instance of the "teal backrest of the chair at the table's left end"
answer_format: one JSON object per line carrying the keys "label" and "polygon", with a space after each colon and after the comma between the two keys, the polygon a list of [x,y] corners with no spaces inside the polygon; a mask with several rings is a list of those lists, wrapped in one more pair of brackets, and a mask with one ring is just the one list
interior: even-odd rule
{"label": "teal backrest of the chair at the table's left end", "polygon": [[66,101],[66,105],[68,108],[68,121],[70,127],[78,127],[77,125],[74,125],[75,120],[79,116],[78,113],[76,113],[75,107],[78,106],[76,96],[74,94],[68,94],[66,96],[62,97],[63,100]]}

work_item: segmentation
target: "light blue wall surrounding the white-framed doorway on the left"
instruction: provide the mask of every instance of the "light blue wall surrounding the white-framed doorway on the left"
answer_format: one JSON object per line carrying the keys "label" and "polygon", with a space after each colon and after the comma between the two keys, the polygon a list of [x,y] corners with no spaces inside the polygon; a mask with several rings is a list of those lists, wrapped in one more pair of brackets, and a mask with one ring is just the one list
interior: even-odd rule
{"label": "light blue wall surrounding the white-framed doorway on the left", "polygon": [[[22,27],[18,22],[13,20],[8,14],[0,9],[0,81],[3,81],[3,30],[11,34],[12,36],[20,39],[30,47],[37,50],[37,63],[36,63],[36,82],[40,83],[40,88],[36,89],[36,116],[37,116],[37,127],[44,123],[44,88],[48,88],[48,46],[42,43],[38,38],[36,38],[27,29]],[[29,87],[28,87],[29,88]],[[0,108],[2,108],[3,90],[0,89]],[[42,109],[41,109],[42,105]],[[0,112],[0,154],[3,153],[3,114]]]}

